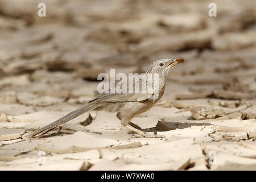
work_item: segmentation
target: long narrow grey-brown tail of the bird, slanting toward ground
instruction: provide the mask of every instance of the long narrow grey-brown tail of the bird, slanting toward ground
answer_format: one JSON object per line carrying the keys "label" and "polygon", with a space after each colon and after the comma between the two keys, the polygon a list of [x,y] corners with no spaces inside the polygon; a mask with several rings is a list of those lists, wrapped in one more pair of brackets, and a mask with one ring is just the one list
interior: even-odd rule
{"label": "long narrow grey-brown tail of the bird, slanting toward ground", "polygon": [[47,133],[48,131],[53,130],[56,127],[64,124],[65,122],[68,122],[69,120],[71,120],[73,118],[76,118],[79,115],[86,113],[87,111],[95,109],[97,107],[97,105],[98,104],[93,103],[93,104],[88,104],[84,107],[81,107],[81,108],[65,115],[64,117],[58,119],[57,121],[55,121],[55,122],[53,122],[53,123],[51,123],[47,126],[42,127],[42,129],[39,129],[39,130],[35,131],[35,133],[32,133],[31,135],[28,135],[28,137],[40,137],[43,134]]}

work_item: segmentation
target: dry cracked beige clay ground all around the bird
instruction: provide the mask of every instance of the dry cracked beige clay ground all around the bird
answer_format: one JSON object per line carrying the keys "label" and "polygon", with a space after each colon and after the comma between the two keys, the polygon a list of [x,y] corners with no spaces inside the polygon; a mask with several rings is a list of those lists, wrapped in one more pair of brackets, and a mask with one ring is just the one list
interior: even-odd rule
{"label": "dry cracked beige clay ground all around the bird", "polygon": [[[36,1],[0,1],[1,170],[256,169],[255,1],[216,1],[214,18],[207,1],[45,2],[39,18]],[[98,73],[177,56],[132,121],[165,138],[133,138],[104,111],[26,137],[96,96]]]}

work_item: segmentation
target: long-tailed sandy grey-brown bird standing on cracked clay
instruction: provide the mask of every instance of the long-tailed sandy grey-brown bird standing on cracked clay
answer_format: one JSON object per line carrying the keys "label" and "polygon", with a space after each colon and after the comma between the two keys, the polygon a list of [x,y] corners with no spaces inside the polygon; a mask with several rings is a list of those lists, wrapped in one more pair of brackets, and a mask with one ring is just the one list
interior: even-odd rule
{"label": "long-tailed sandy grey-brown bird standing on cracked clay", "polygon": [[[113,93],[113,92],[105,92],[99,94],[93,100],[90,100],[87,105],[80,107],[75,111],[65,115],[64,117],[57,119],[57,121],[42,127],[29,135],[29,137],[41,137],[46,134],[48,131],[55,129],[56,127],[63,125],[65,122],[70,121],[77,116],[86,113],[90,110],[105,110],[109,112],[117,112],[117,118],[121,121],[123,127],[134,131],[141,137],[148,138],[161,138],[161,136],[144,132],[136,127],[134,127],[133,123],[131,123],[131,119],[135,117],[135,115],[144,113],[145,111],[151,109],[160,98],[164,94],[164,89],[166,87],[166,81],[168,76],[170,75],[170,70],[174,68],[177,64],[183,63],[184,59],[181,57],[176,57],[174,59],[160,59],[153,61],[148,67],[146,74],[155,75],[153,78],[157,76],[157,82],[152,78],[151,81],[147,80],[147,83],[154,84],[153,92],[146,93]],[[123,88],[129,89],[129,84],[136,85],[139,83],[139,86],[142,86],[142,79],[145,78],[145,75],[140,75],[137,79],[129,80],[126,84],[123,84]],[[120,85],[115,85],[114,88],[119,88]],[[157,88],[157,89],[156,89]],[[110,88],[111,89],[111,88]],[[113,89],[113,88],[112,88]],[[155,96],[155,97],[153,97]]]}

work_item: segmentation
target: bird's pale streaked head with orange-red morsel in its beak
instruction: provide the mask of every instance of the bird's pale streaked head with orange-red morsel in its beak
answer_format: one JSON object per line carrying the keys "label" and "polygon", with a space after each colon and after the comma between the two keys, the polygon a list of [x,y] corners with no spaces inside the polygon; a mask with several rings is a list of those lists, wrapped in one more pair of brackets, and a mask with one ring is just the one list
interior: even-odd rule
{"label": "bird's pale streaked head with orange-red morsel in its beak", "polygon": [[161,76],[168,76],[170,69],[174,68],[177,64],[183,63],[184,59],[176,57],[174,59],[160,59],[151,63],[147,73],[158,73]]}

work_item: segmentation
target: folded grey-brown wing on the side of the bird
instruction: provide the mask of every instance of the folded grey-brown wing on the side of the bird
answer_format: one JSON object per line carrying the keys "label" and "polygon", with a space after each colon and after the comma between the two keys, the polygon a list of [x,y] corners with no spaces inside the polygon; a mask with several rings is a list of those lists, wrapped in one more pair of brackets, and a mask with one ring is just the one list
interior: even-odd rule
{"label": "folded grey-brown wing on the side of the bird", "polygon": [[[89,101],[90,103],[99,103],[99,102],[135,102],[135,101],[144,101],[148,98],[152,97],[154,93],[129,93],[129,83],[122,84],[122,89],[127,90],[127,93],[111,93],[113,89],[109,89],[108,93],[103,93],[94,98],[94,100]],[[133,86],[135,86],[136,83],[140,84],[140,91],[141,91],[141,77],[139,77],[137,80],[133,81]],[[120,86],[120,84],[117,84],[115,86],[115,89]]]}

